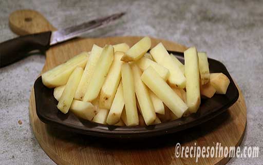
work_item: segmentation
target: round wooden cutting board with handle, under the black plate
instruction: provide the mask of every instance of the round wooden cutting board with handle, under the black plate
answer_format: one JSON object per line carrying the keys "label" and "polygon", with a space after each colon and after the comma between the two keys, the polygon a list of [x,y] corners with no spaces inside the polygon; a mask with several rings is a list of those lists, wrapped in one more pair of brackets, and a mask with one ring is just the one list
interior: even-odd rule
{"label": "round wooden cutting board with handle, under the black plate", "polygon": [[[10,28],[18,35],[55,30],[38,12],[15,11],[9,18]],[[89,51],[93,44],[118,44],[132,46],[141,37],[78,38],[53,46],[46,52],[42,73],[67,59]],[[184,51],[185,46],[152,38],[152,45],[162,42],[166,49]],[[147,138],[140,141],[116,141],[74,134],[51,128],[37,117],[34,90],[30,96],[30,123],[37,141],[47,155],[58,164],[196,164],[196,158],[176,158],[177,142],[182,146],[223,147],[239,146],[246,130],[247,109],[239,90],[237,102],[225,113],[197,127],[175,134]],[[230,158],[199,158],[197,164],[226,164]]]}

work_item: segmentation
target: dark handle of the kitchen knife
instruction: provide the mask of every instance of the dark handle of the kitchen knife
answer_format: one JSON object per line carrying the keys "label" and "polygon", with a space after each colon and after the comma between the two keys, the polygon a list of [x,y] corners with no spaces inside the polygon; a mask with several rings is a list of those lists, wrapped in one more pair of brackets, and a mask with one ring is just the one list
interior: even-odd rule
{"label": "dark handle of the kitchen knife", "polygon": [[0,44],[0,68],[12,64],[32,50],[45,51],[49,48],[51,31],[28,34]]}

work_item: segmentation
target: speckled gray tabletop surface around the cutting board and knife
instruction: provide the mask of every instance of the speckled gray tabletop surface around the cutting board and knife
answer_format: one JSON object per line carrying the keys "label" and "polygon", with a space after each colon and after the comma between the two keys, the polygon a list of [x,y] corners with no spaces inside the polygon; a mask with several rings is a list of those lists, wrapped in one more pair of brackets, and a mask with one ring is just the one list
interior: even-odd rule
{"label": "speckled gray tabletop surface around the cutting board and knife", "polygon": [[[117,27],[92,36],[150,35],[196,46],[222,61],[246,99],[241,146],[260,148],[259,158],[233,158],[229,164],[263,163],[262,1],[0,1],[0,42],[16,36],[8,15],[25,8],[40,11],[57,28],[126,11]],[[34,55],[0,69],[0,164],[54,164],[37,143],[28,117],[30,90],[44,61]]]}

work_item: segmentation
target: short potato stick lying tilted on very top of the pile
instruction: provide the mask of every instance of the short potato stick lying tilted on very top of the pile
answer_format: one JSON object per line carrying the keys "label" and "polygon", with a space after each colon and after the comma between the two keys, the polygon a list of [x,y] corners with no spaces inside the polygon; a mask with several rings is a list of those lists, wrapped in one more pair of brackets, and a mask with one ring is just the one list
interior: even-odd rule
{"label": "short potato stick lying tilted on very top of the pile", "polygon": [[127,50],[121,60],[128,62],[140,59],[151,48],[151,44],[151,38],[143,37],[138,43]]}

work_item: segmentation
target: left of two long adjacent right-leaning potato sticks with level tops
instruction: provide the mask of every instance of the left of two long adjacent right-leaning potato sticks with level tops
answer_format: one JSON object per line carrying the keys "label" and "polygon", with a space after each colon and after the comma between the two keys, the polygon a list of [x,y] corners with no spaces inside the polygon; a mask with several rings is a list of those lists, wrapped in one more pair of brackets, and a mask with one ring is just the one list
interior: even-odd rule
{"label": "left of two long adjacent right-leaning potato sticks with level tops", "polygon": [[83,75],[81,77],[80,84],[78,86],[78,89],[76,91],[74,99],[77,99],[77,100],[83,99],[83,97],[87,91],[88,84],[91,80],[91,76],[93,75],[93,72],[97,66],[98,60],[101,56],[101,52],[102,52],[101,47],[99,47],[95,44],[92,46],[91,53],[89,56],[89,60],[88,60],[86,67],[84,69],[84,72],[83,72]]}

